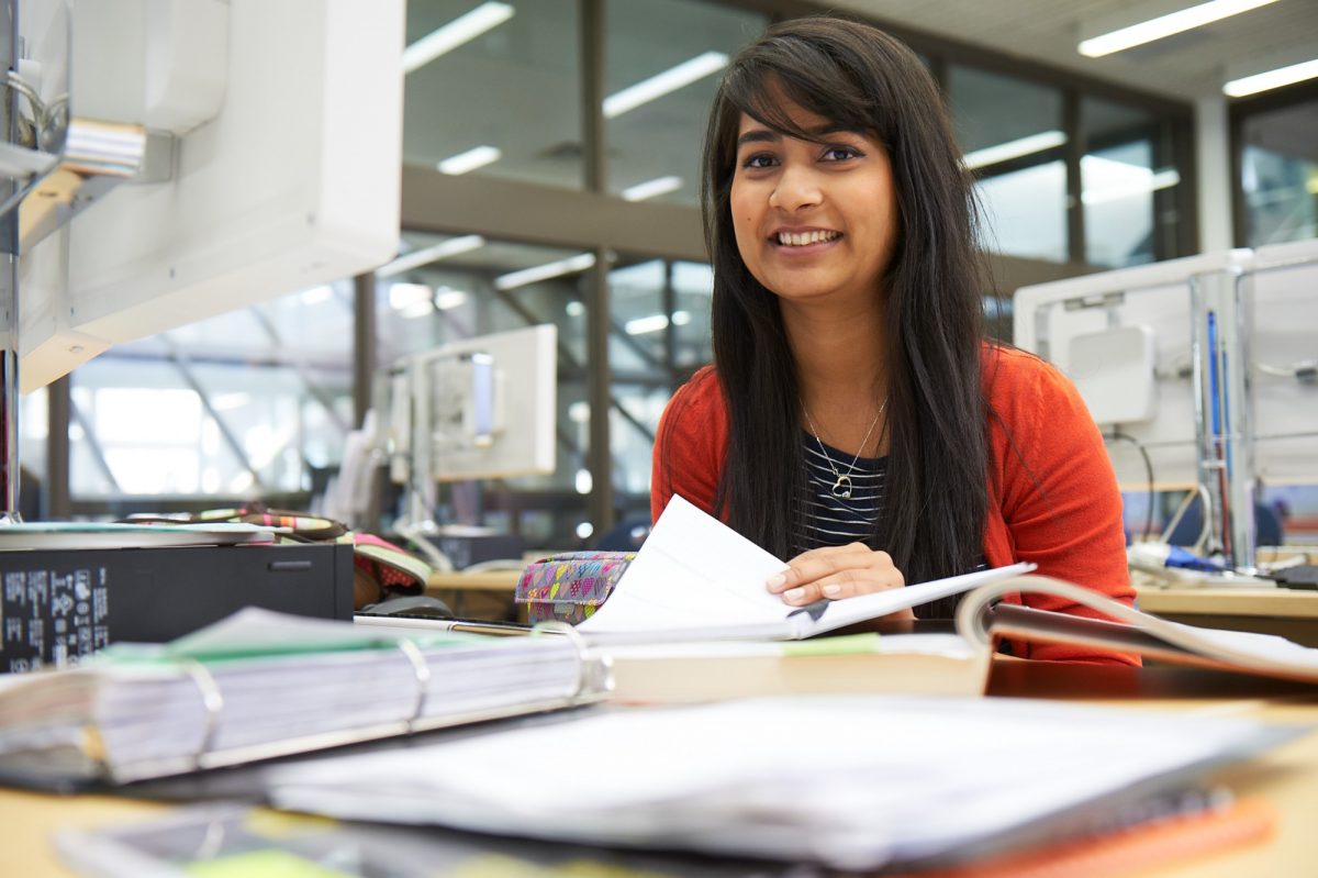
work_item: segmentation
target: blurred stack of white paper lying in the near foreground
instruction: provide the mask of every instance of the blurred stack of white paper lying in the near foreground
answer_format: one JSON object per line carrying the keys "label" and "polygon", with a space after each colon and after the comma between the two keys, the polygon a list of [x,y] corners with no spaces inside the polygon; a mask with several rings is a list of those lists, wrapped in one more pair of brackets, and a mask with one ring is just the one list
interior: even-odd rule
{"label": "blurred stack of white paper lying in the near foreground", "polygon": [[[1289,734],[1220,716],[803,696],[571,718],[269,780],[277,805],[337,817],[873,869],[1111,821]],[[555,758],[527,775],[509,754]]]}

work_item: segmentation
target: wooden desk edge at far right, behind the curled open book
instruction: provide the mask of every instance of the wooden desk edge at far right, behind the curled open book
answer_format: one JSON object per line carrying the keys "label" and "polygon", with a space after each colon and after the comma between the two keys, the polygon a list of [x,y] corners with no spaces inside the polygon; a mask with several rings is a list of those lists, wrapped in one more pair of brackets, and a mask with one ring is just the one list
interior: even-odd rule
{"label": "wooden desk edge at far right, behind the curled open book", "polygon": [[1141,585],[1135,593],[1141,610],[1173,622],[1280,634],[1304,646],[1318,646],[1318,591]]}

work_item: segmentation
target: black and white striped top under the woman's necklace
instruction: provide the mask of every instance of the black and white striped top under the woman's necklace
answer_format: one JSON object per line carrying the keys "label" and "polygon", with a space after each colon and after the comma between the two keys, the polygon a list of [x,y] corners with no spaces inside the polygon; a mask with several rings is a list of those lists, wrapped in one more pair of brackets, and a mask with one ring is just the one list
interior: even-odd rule
{"label": "black and white striped top under the woman's necklace", "polygon": [[821,546],[866,543],[878,548],[875,535],[879,508],[883,504],[886,457],[857,457],[832,446],[824,446],[837,472],[851,479],[851,497],[836,497],[833,485],[837,476],[820,451],[818,440],[804,434],[805,450],[805,522],[796,535],[796,552]]}

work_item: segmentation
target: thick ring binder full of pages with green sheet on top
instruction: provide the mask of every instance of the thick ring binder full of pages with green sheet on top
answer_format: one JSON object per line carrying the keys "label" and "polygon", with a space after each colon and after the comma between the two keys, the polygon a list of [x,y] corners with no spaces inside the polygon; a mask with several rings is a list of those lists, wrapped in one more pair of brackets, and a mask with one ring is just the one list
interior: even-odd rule
{"label": "thick ring binder full of pages with green sheet on top", "polygon": [[585,704],[568,637],[390,633],[246,608],[165,645],[0,678],[0,778],[127,783]]}

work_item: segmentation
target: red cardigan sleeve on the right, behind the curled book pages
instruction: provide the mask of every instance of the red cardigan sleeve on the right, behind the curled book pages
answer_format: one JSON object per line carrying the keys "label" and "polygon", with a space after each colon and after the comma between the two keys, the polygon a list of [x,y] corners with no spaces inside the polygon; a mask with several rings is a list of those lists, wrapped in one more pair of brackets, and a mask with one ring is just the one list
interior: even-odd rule
{"label": "red cardigan sleeve on the right, behind the curled book pages", "polygon": [[[1008,389],[1010,395],[992,395],[1003,423],[994,430],[999,484],[991,493],[999,494],[1014,558],[990,558],[990,563],[1033,562],[1040,575],[1133,605],[1122,494],[1103,436],[1070,380],[1046,363],[1029,360],[1021,369],[1023,381],[1010,381],[1016,385]],[[1036,609],[1099,617],[1050,596],[1027,593],[1024,601]],[[1028,657],[1139,663],[1120,653],[1062,645],[1029,645]]]}

